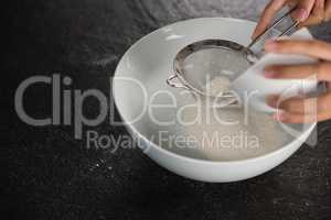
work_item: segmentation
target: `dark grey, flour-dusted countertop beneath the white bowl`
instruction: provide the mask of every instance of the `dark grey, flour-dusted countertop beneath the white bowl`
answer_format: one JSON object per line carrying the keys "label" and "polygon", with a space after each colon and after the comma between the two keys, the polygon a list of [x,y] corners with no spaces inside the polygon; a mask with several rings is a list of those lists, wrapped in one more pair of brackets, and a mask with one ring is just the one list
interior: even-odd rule
{"label": "dark grey, flour-dusted countertop beneath the white bowl", "polygon": [[[1,86],[7,123],[1,161],[8,182],[1,206],[8,219],[331,219],[331,122],[318,127],[318,145],[303,145],[265,175],[206,184],[177,176],[138,150],[86,150],[73,128],[34,128],[14,112],[14,91],[25,78],[60,73],[70,89],[108,95],[109,77],[138,38],[175,21],[199,16],[257,20],[265,1],[52,0],[12,1],[6,8],[8,41]],[[312,29],[331,42],[331,25]],[[29,90],[26,111],[51,112],[51,92]],[[93,117],[93,100],[84,112]],[[118,114],[115,113],[116,119]],[[115,136],[122,127],[94,130]]]}

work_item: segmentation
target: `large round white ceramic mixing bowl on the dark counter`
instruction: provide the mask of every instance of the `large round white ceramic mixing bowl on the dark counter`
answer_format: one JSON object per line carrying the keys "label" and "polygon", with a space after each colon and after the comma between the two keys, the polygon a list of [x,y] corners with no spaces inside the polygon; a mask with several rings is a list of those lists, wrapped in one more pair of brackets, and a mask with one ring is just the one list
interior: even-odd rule
{"label": "large round white ceramic mixing bowl on the dark counter", "polygon": [[[316,124],[310,124],[291,143],[271,153],[229,162],[182,156],[149,140],[153,132],[167,125],[153,123],[153,120],[146,113],[149,107],[148,98],[159,90],[166,90],[174,95],[178,102],[184,102],[188,99],[180,94],[179,89],[170,88],[166,84],[167,77],[173,72],[172,61],[177,53],[185,45],[205,38],[224,38],[247,45],[254,26],[254,22],[223,18],[183,21],[147,35],[124,55],[113,80],[115,103],[128,131],[154,162],[175,174],[196,180],[235,182],[274,168],[293,154],[308,139]],[[154,100],[161,103],[166,99],[160,96]],[[157,111],[154,114],[158,120],[167,121],[175,116],[175,108],[169,108]],[[171,127],[169,131],[174,132]]]}

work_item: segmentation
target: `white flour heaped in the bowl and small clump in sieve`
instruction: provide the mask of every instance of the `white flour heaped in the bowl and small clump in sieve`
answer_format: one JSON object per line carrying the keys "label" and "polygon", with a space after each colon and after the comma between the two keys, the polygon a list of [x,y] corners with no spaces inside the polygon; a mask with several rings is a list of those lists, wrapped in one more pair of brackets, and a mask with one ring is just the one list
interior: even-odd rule
{"label": "white flour heaped in the bowl and small clump in sieve", "polygon": [[[225,80],[226,81],[226,80]],[[224,86],[225,85],[225,86]],[[211,92],[226,87],[224,78],[209,84]],[[186,107],[181,112],[175,134],[182,138],[178,154],[210,161],[235,161],[266,154],[281,147],[288,135],[273,117],[243,108],[212,108],[206,103]],[[237,123],[234,123],[237,122]]]}

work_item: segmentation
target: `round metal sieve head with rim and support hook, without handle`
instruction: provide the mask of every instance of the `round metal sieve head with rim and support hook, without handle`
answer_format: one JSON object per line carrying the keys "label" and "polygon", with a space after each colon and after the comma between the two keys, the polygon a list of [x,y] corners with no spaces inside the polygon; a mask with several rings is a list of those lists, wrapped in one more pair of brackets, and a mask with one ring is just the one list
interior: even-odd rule
{"label": "round metal sieve head with rim and support hook, without handle", "polygon": [[199,41],[177,54],[174,73],[168,77],[167,82],[171,87],[189,89],[204,97],[221,98],[225,106],[236,103],[236,95],[229,89],[215,96],[206,90],[206,85],[220,76],[229,81],[236,79],[250,66],[248,56],[254,56],[253,52],[235,42]]}

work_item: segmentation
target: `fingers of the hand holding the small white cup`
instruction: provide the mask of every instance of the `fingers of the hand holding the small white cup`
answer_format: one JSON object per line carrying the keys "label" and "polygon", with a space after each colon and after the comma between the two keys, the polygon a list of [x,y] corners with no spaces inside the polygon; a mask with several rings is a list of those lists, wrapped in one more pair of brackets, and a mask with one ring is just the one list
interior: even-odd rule
{"label": "fingers of the hand holding the small white cup", "polygon": [[271,79],[305,79],[313,77],[325,81],[327,92],[318,97],[293,97],[281,100],[280,96],[268,97],[267,103],[278,109],[275,119],[285,123],[308,123],[331,119],[331,44],[311,40],[279,40],[265,45],[266,52],[300,54],[318,58],[316,64],[275,65],[265,68],[265,77]]}

